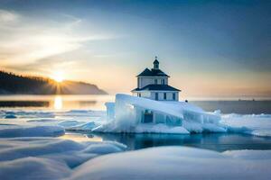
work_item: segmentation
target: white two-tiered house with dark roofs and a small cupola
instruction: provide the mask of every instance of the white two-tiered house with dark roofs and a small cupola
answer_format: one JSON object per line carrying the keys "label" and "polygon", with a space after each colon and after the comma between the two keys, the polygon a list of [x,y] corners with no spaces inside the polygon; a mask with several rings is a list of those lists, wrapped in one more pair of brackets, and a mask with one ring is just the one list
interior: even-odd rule
{"label": "white two-tiered house with dark roofs and a small cupola", "polygon": [[179,101],[179,92],[181,90],[168,85],[168,78],[159,68],[157,57],[154,60],[154,67],[150,70],[145,70],[137,77],[137,87],[132,90],[132,93],[148,99],[156,101]]}

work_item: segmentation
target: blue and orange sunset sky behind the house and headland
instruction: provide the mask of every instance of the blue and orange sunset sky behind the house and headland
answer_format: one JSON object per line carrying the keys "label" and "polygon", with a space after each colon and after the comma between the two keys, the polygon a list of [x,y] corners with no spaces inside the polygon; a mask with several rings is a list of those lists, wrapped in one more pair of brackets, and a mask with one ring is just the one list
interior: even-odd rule
{"label": "blue and orange sunset sky behind the house and headland", "polygon": [[183,98],[271,98],[270,32],[264,0],[1,0],[0,69],[129,93],[157,56]]}

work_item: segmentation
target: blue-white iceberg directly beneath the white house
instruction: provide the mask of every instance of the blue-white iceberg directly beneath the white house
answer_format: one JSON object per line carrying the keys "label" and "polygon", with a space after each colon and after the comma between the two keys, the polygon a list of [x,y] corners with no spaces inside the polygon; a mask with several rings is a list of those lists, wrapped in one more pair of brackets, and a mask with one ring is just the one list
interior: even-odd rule
{"label": "blue-white iceberg directly beneath the white house", "polygon": [[106,106],[107,122],[93,131],[178,134],[227,131],[220,124],[219,112],[204,112],[191,103],[117,94],[115,103]]}

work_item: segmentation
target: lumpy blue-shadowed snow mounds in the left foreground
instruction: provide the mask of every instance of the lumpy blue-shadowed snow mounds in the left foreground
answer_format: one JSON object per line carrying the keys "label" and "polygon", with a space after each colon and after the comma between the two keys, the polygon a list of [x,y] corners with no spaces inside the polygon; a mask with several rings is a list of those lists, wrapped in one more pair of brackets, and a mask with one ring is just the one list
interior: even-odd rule
{"label": "lumpy blue-shadowed snow mounds in the left foreground", "polygon": [[1,179],[62,179],[90,158],[126,149],[117,142],[53,138],[0,139]]}

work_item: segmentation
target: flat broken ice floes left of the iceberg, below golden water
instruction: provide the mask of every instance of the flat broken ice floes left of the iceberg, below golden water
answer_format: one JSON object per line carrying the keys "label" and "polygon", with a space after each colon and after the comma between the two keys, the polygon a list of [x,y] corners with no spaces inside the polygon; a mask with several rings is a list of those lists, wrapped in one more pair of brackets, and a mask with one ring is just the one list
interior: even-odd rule
{"label": "flat broken ice floes left of the iceberg, below golden water", "polygon": [[[14,115],[16,119],[5,119],[7,115]],[[106,115],[103,111],[70,110],[0,110],[1,124],[21,125],[23,128],[33,126],[60,126],[65,130],[91,130],[103,121]],[[94,122],[95,121],[95,122]],[[3,126],[0,124],[0,130]]]}

